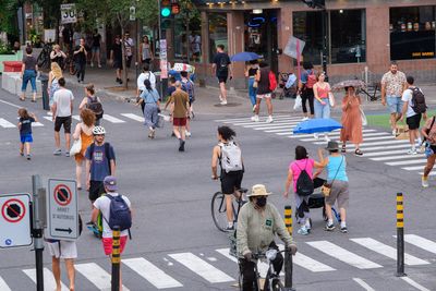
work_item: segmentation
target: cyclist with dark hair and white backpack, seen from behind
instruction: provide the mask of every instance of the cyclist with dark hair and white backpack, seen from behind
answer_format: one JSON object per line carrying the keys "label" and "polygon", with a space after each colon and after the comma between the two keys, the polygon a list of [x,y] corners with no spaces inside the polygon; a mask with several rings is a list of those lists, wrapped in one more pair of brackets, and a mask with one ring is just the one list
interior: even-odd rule
{"label": "cyclist with dark hair and white backpack, seen from behind", "polygon": [[218,128],[218,145],[214,147],[211,156],[211,179],[217,180],[218,161],[221,168],[221,192],[226,195],[226,213],[228,231],[233,227],[233,195],[241,198],[241,182],[244,174],[244,166],[242,161],[241,148],[233,142],[235,132],[229,126]]}

